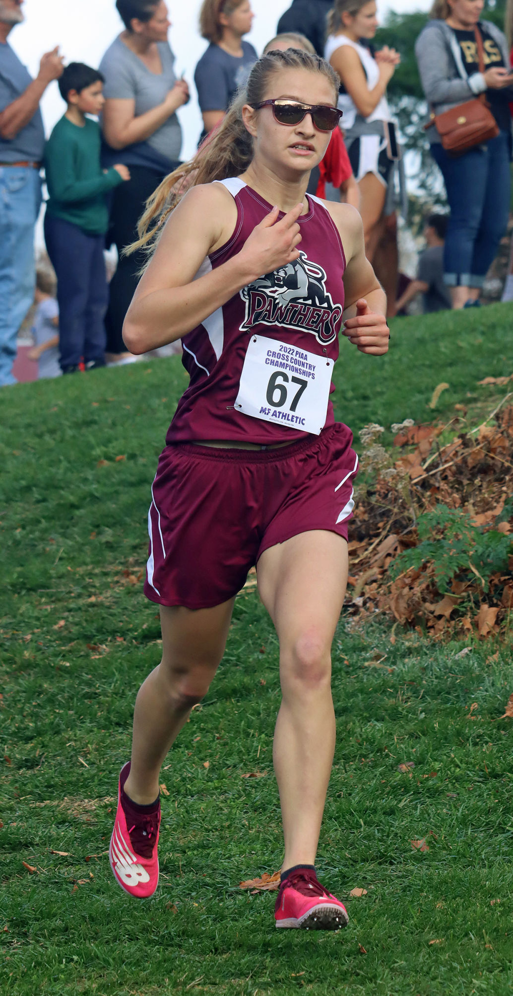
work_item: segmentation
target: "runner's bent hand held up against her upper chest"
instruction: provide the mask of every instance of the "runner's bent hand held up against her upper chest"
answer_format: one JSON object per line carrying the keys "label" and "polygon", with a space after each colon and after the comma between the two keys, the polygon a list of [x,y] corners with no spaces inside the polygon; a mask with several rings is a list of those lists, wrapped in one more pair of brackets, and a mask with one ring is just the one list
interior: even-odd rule
{"label": "runner's bent hand held up against her upper chest", "polygon": [[301,235],[297,219],[302,210],[303,205],[296,204],[277,221],[279,208],[273,207],[256,225],[239,254],[250,272],[255,274],[253,279],[256,280],[264,273],[272,273],[298,258],[299,250],[296,246],[301,241]]}

